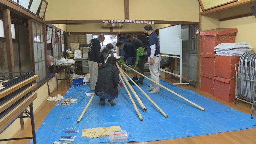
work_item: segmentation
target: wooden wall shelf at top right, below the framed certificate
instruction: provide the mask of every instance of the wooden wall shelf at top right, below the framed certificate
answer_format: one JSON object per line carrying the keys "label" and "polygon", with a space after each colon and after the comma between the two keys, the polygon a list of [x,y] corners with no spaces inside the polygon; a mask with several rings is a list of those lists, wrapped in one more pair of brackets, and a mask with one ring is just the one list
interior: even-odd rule
{"label": "wooden wall shelf at top right, below the framed certificate", "polygon": [[200,12],[200,15],[216,18],[219,19],[219,21],[231,20],[253,15],[251,10],[252,6],[256,6],[256,0],[239,0],[234,3]]}

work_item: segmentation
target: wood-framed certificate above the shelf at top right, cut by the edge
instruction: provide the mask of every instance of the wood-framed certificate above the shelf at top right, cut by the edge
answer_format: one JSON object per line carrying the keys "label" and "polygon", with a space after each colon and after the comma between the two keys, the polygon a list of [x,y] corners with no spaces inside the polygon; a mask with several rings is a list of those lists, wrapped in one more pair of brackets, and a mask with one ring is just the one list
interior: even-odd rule
{"label": "wood-framed certificate above the shelf at top right, cut by the edge", "polygon": [[203,11],[213,9],[229,3],[237,2],[238,0],[198,0]]}

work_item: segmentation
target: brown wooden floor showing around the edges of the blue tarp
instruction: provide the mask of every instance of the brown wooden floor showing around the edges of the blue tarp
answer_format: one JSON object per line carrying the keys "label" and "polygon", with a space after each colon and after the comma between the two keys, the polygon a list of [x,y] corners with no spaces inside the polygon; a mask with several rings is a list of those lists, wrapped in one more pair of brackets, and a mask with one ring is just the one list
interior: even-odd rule
{"label": "brown wooden floor showing around the edges of the blue tarp", "polygon": [[[130,75],[130,74],[129,74]],[[174,83],[174,81],[166,79],[167,81]],[[62,81],[61,85],[59,85],[59,89],[56,89],[51,94],[52,97],[56,96],[56,94],[64,95],[67,91],[64,87],[69,87],[69,83],[65,83]],[[238,111],[245,112],[250,114],[251,105],[247,103],[239,103],[234,105],[234,103],[227,103],[222,100],[216,99],[210,94],[205,92],[201,92],[196,90],[191,86],[180,85],[181,88],[191,89],[198,94],[204,95],[210,99],[218,101],[224,105],[230,106],[232,108],[237,109]],[[44,106],[40,109],[40,111],[35,114],[35,126],[36,129],[41,125],[46,115],[51,111],[54,107],[55,102],[46,102]],[[256,110],[254,110],[254,114],[256,114]],[[248,117],[250,118],[250,117]],[[23,132],[19,135],[21,136],[31,136],[31,126],[30,123],[25,127]],[[17,140],[12,141],[10,144],[28,144],[30,140]],[[222,132],[215,133],[210,135],[200,135],[200,136],[190,136],[185,138],[176,138],[176,139],[168,139],[163,141],[151,141],[151,142],[129,142],[129,144],[256,144],[256,128],[244,129],[244,130],[236,130],[231,132]]]}

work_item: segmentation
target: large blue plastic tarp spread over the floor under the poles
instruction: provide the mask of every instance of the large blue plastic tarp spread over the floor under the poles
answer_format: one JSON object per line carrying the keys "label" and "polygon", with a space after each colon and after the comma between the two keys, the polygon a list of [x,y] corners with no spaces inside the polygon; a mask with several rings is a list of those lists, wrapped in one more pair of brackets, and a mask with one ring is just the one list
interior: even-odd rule
{"label": "large blue plastic tarp spread over the floor under the poles", "polygon": [[[149,80],[144,79],[144,84],[140,87],[146,91],[149,83]],[[60,136],[76,136],[75,144],[109,143],[108,136],[81,137],[82,129],[94,127],[120,126],[122,130],[127,131],[128,141],[136,142],[206,135],[256,127],[256,119],[251,119],[248,114],[199,95],[194,91],[179,88],[164,80],[161,80],[160,83],[202,106],[206,111],[201,111],[163,88],[160,88],[158,94],[150,94],[149,91],[146,91],[149,97],[168,115],[168,118],[165,118],[145,95],[136,86],[133,86],[147,108],[147,111],[143,112],[133,96],[143,117],[143,121],[140,121],[125,88],[122,86],[118,98],[114,100],[116,106],[111,106],[107,100],[106,105],[100,105],[100,98],[95,96],[80,123],[76,123],[90,99],[90,96],[86,96],[85,92],[93,91],[90,91],[90,85],[72,86],[64,97],[78,99],[78,103],[55,106],[36,132],[37,143],[50,144],[58,141]],[[73,130],[67,129],[69,127],[76,127],[80,131],[79,133],[65,133],[65,130]]]}

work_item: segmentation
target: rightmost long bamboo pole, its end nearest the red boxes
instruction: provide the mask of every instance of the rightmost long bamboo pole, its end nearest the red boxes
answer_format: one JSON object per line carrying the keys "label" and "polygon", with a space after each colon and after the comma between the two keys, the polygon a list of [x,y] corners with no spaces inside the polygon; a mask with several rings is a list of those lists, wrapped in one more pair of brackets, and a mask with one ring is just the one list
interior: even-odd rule
{"label": "rightmost long bamboo pole, its end nearest the red boxes", "polygon": [[205,111],[205,108],[203,108],[203,107],[197,105],[196,103],[190,101],[189,99],[186,99],[185,97],[181,96],[180,94],[177,94],[176,92],[172,91],[171,89],[166,88],[165,86],[161,85],[160,83],[158,83],[158,82],[156,82],[156,81],[154,81],[154,80],[152,80],[152,79],[149,79],[149,78],[148,78],[147,76],[145,76],[144,74],[139,73],[138,71],[134,70],[133,68],[128,67],[128,66],[125,65],[125,64],[122,64],[122,63],[120,63],[120,62],[118,62],[118,63],[121,64],[121,65],[123,65],[123,66],[126,67],[126,68],[131,69],[131,70],[134,71],[135,73],[140,74],[141,76],[145,77],[146,79],[150,80],[151,82],[154,82],[155,84],[157,84],[157,85],[161,86],[162,88],[168,90],[169,92],[172,92],[173,94],[177,95],[178,97],[180,97],[180,98],[183,99],[183,100],[186,100],[187,102],[191,103],[192,105],[196,106],[197,108],[201,109],[202,111]]}

